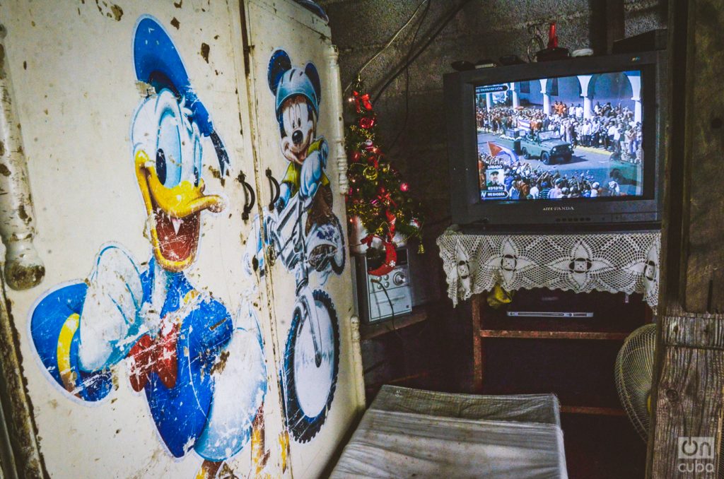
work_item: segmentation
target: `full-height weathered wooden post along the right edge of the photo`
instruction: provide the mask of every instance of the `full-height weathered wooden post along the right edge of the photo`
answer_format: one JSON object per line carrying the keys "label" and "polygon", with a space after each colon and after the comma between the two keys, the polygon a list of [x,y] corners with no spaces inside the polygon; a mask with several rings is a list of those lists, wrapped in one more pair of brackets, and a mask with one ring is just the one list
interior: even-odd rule
{"label": "full-height weathered wooden post along the right edge of the photo", "polygon": [[[713,186],[724,166],[722,25],[720,0],[669,4],[670,113],[649,478],[724,474],[724,195]],[[702,445],[714,457],[696,457]]]}

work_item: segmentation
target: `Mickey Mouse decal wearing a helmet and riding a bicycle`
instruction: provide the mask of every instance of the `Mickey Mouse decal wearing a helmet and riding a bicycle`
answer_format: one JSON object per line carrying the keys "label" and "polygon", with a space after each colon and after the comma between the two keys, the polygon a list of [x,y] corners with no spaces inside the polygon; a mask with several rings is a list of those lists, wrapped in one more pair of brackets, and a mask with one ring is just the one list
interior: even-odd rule
{"label": "Mickey Mouse decal wearing a helmet and riding a bicycle", "polygon": [[256,259],[256,265],[262,267],[259,258],[266,243],[295,276],[296,299],[290,310],[280,378],[287,431],[295,440],[307,442],[327,420],[340,363],[337,311],[324,289],[314,289],[311,274],[319,274],[321,285],[332,272],[341,274],[346,251],[340,221],[332,212],[332,185],[325,173],[327,141],[317,135],[319,72],[312,63],[292,66],[287,52],[280,49],[269,59],[268,80],[279,123],[279,147],[288,165],[279,200],[273,211],[264,215],[264,241],[260,237],[249,242],[251,250],[245,257],[251,262]]}

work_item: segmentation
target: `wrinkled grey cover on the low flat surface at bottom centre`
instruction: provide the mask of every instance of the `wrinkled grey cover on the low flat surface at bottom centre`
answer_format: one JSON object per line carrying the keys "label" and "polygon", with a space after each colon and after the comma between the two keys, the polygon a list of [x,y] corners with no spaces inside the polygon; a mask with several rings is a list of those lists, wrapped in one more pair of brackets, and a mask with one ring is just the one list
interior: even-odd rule
{"label": "wrinkled grey cover on the low flat surface at bottom centre", "polygon": [[383,386],[332,478],[568,478],[553,394]]}

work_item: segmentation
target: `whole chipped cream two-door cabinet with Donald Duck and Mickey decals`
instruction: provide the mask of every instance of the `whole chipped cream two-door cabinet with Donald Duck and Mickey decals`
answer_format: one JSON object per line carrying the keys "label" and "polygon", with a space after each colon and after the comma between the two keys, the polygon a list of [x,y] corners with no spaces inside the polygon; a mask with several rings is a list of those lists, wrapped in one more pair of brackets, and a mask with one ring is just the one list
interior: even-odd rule
{"label": "whole chipped cream two-door cabinet with Donald Duck and Mickey decals", "polygon": [[[327,25],[282,0],[8,0],[0,17],[46,264],[6,296],[49,475],[319,476],[360,407]],[[318,109],[282,108],[292,161],[279,43]],[[274,214],[267,169],[290,188]],[[306,258],[274,264],[272,240]]]}

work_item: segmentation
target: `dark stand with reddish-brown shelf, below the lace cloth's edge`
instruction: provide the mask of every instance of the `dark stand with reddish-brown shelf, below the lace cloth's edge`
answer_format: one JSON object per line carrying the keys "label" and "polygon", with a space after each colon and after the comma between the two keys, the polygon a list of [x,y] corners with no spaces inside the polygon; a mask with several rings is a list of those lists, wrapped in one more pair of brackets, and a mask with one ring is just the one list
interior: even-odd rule
{"label": "dark stand with reddish-brown shelf, below the lace cloth's edge", "polygon": [[[515,293],[513,302],[493,309],[487,304],[487,293],[480,293],[471,298],[471,307],[473,391],[479,394],[555,392],[561,399],[561,412],[624,415],[615,397],[613,360],[628,334],[652,321],[652,310],[641,301],[640,294],[626,297],[623,293],[521,290]],[[511,310],[539,311],[558,307],[590,311],[593,317],[507,315]],[[574,340],[578,342],[573,345],[577,357],[568,360],[562,351],[571,347],[570,342]],[[598,344],[583,346],[582,342]],[[501,347],[500,344],[508,346]],[[580,353],[581,347],[585,349],[583,354]],[[489,357],[500,354],[501,348],[504,359]],[[515,350],[520,356],[508,357],[509,350]],[[592,357],[597,354],[601,357]],[[497,364],[489,377],[487,363]],[[576,368],[589,368],[592,377],[586,378],[585,371],[578,371],[577,374],[571,372],[571,378],[566,380],[567,371]],[[551,370],[554,372],[552,375]],[[512,383],[505,381],[506,375],[510,376]],[[546,379],[547,376],[552,376],[552,379]]]}

